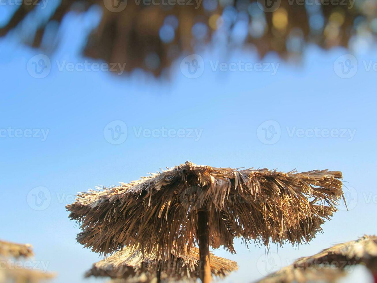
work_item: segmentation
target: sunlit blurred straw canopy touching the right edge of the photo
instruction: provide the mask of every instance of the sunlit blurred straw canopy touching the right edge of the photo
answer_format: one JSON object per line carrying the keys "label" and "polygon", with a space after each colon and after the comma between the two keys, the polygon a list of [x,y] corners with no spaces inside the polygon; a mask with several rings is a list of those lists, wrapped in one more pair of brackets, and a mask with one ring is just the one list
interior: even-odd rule
{"label": "sunlit blurred straw canopy touching the right edge of the photo", "polygon": [[307,268],[313,265],[337,265],[345,267],[362,263],[377,272],[377,237],[364,235],[356,241],[349,241],[324,249],[310,257],[302,257],[294,266]]}

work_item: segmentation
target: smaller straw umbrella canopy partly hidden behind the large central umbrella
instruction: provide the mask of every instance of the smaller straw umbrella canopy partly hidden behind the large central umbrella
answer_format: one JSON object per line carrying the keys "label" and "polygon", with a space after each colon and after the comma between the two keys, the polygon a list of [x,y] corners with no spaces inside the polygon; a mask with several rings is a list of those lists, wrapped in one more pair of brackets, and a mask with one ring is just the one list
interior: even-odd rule
{"label": "smaller straw umbrella canopy partly hidden behind the large central umbrella", "polygon": [[[196,248],[190,254],[171,255],[170,258],[166,257],[165,261],[160,261],[156,253],[144,257],[142,252],[127,247],[93,264],[92,269],[86,273],[86,277],[144,278],[144,281],[148,282],[156,277],[158,281],[195,281],[199,275],[199,265],[199,250]],[[235,261],[211,254],[213,276],[223,278],[237,269]],[[138,280],[142,281],[142,279]]]}

